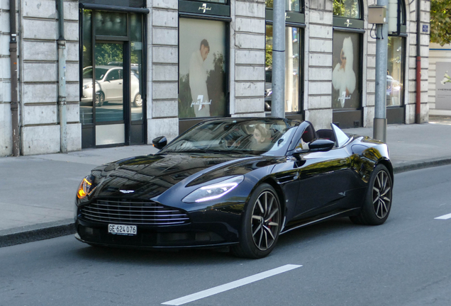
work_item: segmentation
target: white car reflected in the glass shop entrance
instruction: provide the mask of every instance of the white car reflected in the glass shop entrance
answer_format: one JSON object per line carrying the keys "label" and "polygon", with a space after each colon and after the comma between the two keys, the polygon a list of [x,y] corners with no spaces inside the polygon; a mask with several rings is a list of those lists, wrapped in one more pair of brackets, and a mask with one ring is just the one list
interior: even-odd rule
{"label": "white car reflected in the glass shop entrance", "polygon": [[[138,74],[132,69],[130,73],[130,102],[135,107],[143,105],[140,94],[140,80]],[[92,67],[83,69],[82,103],[92,103]],[[123,67],[112,65],[96,66],[96,94],[95,106],[104,105],[105,102],[123,101]]]}

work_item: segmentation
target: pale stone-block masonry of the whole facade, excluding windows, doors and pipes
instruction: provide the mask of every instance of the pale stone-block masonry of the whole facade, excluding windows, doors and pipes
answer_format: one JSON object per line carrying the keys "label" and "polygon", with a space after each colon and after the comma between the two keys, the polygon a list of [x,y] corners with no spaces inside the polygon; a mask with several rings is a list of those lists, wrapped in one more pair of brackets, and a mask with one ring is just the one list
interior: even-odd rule
{"label": "pale stone-block masonry of the whole facade, excluding windows, doors and pipes", "polygon": [[[406,65],[403,80],[406,123],[415,121],[416,1],[406,2]],[[332,122],[333,1],[305,0],[303,111],[316,128]],[[363,0],[363,125],[372,126],[376,41],[370,37]],[[179,1],[147,0],[147,143],[179,134]],[[429,24],[430,2],[421,0],[421,25]],[[9,1],[1,1],[0,156],[11,155],[11,76],[9,68]],[[18,0],[18,94],[21,154],[60,152],[57,107],[57,8],[55,0]],[[67,40],[67,140],[69,151],[81,149],[79,121],[79,9],[65,0]],[[228,27],[228,98],[231,116],[265,116],[265,0],[231,0]],[[229,23],[228,23],[229,24]],[[302,56],[302,55],[301,55]],[[421,120],[428,121],[429,33],[421,33]],[[432,102],[430,100],[430,102]]]}

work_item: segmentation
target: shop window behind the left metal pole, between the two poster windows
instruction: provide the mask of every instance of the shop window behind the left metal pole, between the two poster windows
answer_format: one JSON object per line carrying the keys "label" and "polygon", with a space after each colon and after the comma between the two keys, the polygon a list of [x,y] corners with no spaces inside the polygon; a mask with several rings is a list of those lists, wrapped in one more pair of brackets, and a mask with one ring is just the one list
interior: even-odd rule
{"label": "shop window behind the left metal pole, between the two poster windows", "polygon": [[[266,52],[265,52],[265,111],[272,105],[272,38],[274,1],[266,0]],[[304,2],[285,0],[285,112],[302,111],[302,28],[304,23]]]}

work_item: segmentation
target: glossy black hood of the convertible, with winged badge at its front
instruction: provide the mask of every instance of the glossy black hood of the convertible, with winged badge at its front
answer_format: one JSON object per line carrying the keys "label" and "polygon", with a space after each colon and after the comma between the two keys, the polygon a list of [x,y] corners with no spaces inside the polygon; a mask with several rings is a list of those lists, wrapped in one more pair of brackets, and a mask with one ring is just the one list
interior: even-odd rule
{"label": "glossy black hood of the convertible, with winged badge at its front", "polygon": [[[267,157],[230,154],[156,154],[122,159],[94,169],[92,196],[150,199],[177,183],[196,186],[226,176],[252,171]],[[274,159],[274,157],[272,157]],[[260,161],[260,162],[262,162]],[[267,166],[264,162],[261,166]],[[255,168],[255,166],[254,166]],[[94,188],[93,187],[93,188]]]}

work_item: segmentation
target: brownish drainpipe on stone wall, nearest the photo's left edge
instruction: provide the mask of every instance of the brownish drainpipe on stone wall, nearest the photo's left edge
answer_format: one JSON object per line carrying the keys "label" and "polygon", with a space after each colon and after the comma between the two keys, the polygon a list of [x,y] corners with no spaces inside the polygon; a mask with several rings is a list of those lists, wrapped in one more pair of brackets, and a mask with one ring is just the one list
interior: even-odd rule
{"label": "brownish drainpipe on stone wall, nearest the photo's left edge", "polygon": [[21,154],[18,127],[16,1],[9,0],[9,57],[11,60],[11,116],[13,123],[13,156]]}

